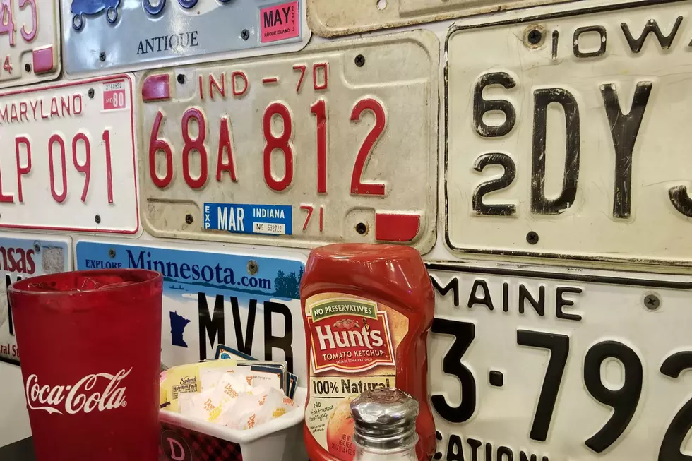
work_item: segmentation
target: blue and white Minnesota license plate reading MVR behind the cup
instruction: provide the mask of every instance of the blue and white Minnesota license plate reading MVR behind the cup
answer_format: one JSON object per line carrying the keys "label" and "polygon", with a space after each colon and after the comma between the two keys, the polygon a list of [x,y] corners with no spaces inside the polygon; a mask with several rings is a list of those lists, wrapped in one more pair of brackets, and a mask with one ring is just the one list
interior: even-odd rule
{"label": "blue and white Minnesota license plate reading MVR behind the cup", "polygon": [[133,268],[163,274],[161,361],[213,359],[219,344],[259,360],[287,361],[305,379],[299,283],[305,257],[193,244],[79,241],[78,270]]}

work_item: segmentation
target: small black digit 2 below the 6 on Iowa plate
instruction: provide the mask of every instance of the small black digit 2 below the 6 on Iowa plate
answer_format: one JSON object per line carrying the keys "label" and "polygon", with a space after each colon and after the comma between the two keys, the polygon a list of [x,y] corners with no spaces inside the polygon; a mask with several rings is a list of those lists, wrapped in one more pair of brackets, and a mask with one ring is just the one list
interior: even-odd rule
{"label": "small black digit 2 below the 6 on Iowa plate", "polygon": [[489,215],[489,216],[511,216],[517,212],[515,205],[511,203],[507,204],[492,204],[487,205],[483,203],[483,197],[487,193],[501,191],[503,188],[510,186],[517,174],[517,167],[507,154],[501,152],[493,152],[489,154],[480,155],[473,165],[473,169],[477,172],[482,172],[488,165],[500,165],[503,167],[504,172],[502,176],[497,179],[491,179],[480,184],[475,191],[473,191],[472,205],[473,210],[478,215]]}

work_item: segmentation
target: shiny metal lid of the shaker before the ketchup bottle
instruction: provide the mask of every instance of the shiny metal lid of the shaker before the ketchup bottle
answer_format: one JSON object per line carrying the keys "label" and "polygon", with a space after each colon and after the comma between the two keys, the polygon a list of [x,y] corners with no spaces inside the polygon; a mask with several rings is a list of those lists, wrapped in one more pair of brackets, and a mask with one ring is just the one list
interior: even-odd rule
{"label": "shiny metal lid of the shaker before the ketchup bottle", "polygon": [[351,402],[354,442],[383,450],[414,445],[418,410],[418,400],[402,390],[366,390]]}

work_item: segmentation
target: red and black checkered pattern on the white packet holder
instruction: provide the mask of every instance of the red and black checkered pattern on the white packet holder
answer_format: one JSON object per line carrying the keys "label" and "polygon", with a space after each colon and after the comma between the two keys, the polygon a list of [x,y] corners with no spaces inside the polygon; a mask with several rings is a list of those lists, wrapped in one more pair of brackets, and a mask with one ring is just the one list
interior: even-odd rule
{"label": "red and black checkered pattern on the white packet holder", "polygon": [[162,421],[160,424],[159,461],[243,461],[238,443]]}

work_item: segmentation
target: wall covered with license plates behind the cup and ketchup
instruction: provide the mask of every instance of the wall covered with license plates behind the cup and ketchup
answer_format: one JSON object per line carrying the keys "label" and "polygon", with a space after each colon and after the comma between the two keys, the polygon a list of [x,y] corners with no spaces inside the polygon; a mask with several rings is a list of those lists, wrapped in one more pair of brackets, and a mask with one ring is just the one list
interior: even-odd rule
{"label": "wall covered with license plates behind the cup and ketchup", "polygon": [[16,280],[158,270],[162,364],[304,380],[347,241],[429,267],[435,459],[688,459],[691,42],[686,0],[0,0],[0,446]]}

